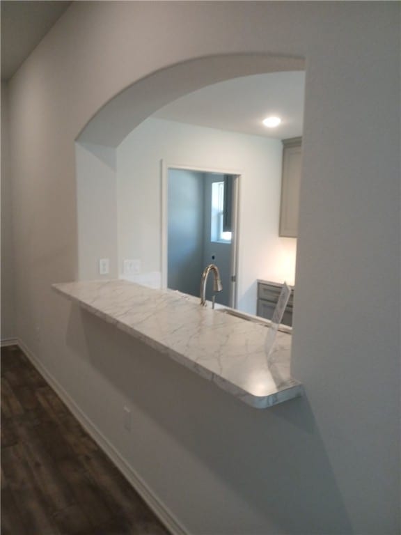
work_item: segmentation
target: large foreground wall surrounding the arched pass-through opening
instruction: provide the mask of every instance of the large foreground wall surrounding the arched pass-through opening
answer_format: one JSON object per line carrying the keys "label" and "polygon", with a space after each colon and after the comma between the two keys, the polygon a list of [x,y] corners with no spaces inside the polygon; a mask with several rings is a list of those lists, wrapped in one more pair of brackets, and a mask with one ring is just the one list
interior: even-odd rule
{"label": "large foreground wall surrounding the arched pass-through opening", "polygon": [[[399,12],[75,2],[10,82],[17,336],[192,534],[400,531]],[[265,411],[51,290],[77,274],[81,128],[141,77],[230,52],[307,61],[292,348],[306,396]]]}

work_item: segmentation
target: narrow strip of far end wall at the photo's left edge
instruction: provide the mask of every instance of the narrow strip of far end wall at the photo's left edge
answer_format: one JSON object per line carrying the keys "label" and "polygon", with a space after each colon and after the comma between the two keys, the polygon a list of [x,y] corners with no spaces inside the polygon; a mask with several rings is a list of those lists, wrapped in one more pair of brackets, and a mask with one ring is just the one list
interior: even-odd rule
{"label": "narrow strip of far end wall at the photo's left edge", "polygon": [[8,85],[1,82],[1,341],[15,339],[13,198],[8,142]]}

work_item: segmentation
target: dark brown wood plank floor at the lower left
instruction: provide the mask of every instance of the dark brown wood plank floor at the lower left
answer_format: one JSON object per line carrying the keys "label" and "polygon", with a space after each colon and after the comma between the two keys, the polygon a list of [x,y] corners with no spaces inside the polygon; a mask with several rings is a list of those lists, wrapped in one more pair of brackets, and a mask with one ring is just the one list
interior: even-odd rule
{"label": "dark brown wood plank floor at the lower left", "polygon": [[168,535],[17,346],[1,348],[1,535]]}

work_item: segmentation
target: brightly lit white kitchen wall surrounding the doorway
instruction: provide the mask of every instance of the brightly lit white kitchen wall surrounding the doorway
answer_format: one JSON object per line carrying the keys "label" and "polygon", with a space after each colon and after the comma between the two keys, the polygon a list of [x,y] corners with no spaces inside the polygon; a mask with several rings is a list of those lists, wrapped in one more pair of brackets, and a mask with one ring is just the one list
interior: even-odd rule
{"label": "brightly lit white kitchen wall surrounding the doorway", "polygon": [[[194,166],[242,175],[238,308],[256,311],[256,279],[294,281],[296,240],[278,237],[281,141],[150,118],[117,148],[118,255],[161,263],[161,166]],[[285,263],[286,262],[286,263]]]}

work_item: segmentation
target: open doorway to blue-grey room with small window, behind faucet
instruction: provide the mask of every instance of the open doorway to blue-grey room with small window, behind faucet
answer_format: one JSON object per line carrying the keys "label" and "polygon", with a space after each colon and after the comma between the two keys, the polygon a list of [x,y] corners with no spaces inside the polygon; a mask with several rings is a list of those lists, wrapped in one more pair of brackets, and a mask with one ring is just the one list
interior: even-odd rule
{"label": "open doorway to blue-grey room with small window, behind faucet", "polygon": [[[230,173],[166,166],[164,173],[164,287],[199,296],[201,274],[213,263],[223,290],[219,304],[236,305],[237,200],[239,176]],[[212,300],[213,278],[206,299]]]}

